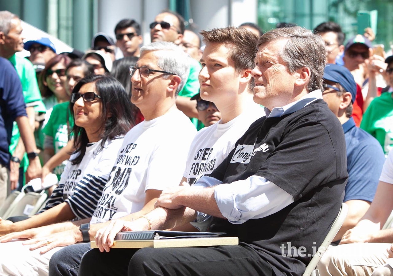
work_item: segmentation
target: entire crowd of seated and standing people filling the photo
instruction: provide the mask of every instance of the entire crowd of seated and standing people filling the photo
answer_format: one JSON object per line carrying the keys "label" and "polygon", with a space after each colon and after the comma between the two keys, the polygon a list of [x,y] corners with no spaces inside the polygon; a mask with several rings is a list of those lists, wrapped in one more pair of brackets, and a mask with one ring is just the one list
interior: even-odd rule
{"label": "entire crowd of seated and standing people filling the photo", "polygon": [[[393,275],[393,55],[371,29],[196,34],[167,10],[149,27],[150,44],[123,19],[116,42],[57,53],[0,11],[0,205],[58,179],[37,214],[0,218],[0,275],[301,276],[296,250],[315,253],[343,202],[319,273]],[[111,249],[165,229],[239,245]]]}

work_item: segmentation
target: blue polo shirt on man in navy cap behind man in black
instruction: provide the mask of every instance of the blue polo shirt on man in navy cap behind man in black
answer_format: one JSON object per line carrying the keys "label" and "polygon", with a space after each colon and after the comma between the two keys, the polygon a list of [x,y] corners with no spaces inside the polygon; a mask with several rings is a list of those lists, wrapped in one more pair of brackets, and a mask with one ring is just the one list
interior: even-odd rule
{"label": "blue polo shirt on man in navy cap behind man in black", "polygon": [[344,202],[351,199],[373,201],[385,155],[378,141],[355,126],[351,117],[343,125],[347,144],[348,182]]}

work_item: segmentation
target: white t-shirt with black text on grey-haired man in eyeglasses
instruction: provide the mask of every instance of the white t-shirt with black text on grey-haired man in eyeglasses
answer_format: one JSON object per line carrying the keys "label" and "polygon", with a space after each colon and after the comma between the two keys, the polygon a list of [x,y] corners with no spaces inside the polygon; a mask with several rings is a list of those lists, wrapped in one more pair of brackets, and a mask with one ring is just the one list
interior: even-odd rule
{"label": "white t-shirt with black text on grey-haired man in eyeglasses", "polygon": [[140,211],[146,190],[178,186],[195,134],[195,126],[179,110],[134,126],[124,137],[90,223]]}

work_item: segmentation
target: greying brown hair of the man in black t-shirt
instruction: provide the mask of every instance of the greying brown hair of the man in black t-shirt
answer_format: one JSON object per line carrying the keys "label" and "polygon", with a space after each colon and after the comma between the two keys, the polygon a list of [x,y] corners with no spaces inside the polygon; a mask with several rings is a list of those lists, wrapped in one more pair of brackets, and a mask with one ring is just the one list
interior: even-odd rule
{"label": "greying brown hair of the man in black t-shirt", "polygon": [[273,29],[259,38],[257,48],[276,40],[287,40],[285,46],[280,49],[279,56],[286,63],[288,71],[294,73],[300,68],[309,68],[311,75],[307,91],[322,90],[326,63],[325,42],[322,37],[299,26]]}

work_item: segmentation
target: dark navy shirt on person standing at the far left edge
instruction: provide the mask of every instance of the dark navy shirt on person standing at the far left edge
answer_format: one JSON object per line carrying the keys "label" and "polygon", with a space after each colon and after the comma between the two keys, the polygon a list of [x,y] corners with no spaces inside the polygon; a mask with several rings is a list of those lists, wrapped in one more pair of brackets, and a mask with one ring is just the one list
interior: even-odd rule
{"label": "dark navy shirt on person standing at the far left edge", "polygon": [[9,142],[12,125],[19,116],[27,116],[17,71],[9,60],[0,57],[0,163],[9,166]]}

